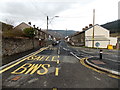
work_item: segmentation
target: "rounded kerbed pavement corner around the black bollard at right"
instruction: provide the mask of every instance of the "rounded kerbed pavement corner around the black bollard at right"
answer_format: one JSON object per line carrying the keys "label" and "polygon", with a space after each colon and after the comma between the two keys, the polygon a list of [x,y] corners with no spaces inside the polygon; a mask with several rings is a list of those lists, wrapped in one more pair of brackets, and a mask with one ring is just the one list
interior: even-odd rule
{"label": "rounded kerbed pavement corner around the black bollard at right", "polygon": [[85,63],[91,67],[94,67],[98,70],[120,76],[120,64],[117,62],[107,61],[104,58],[100,59],[99,57],[91,57],[85,60]]}

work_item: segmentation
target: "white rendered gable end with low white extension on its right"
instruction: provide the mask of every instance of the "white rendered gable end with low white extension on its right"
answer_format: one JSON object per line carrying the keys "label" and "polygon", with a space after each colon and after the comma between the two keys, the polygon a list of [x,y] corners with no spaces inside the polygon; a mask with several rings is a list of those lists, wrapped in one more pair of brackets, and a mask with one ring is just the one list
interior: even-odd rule
{"label": "white rendered gable end with low white extension on its right", "polygon": [[[93,43],[93,26],[85,30],[85,46],[92,47]],[[117,37],[110,37],[110,31],[101,27],[100,25],[94,25],[94,47],[107,48],[108,45],[115,46],[117,43]]]}

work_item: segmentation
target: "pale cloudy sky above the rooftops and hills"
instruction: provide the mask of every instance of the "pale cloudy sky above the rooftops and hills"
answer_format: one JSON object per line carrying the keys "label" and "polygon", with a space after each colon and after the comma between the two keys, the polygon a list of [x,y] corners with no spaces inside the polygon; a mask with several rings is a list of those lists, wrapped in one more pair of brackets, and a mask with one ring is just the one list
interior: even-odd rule
{"label": "pale cloudy sky above the rooftops and hills", "polygon": [[[0,0],[0,21],[14,26],[31,22],[36,27],[75,30],[93,23],[105,24],[118,19],[119,0]],[[120,4],[119,4],[120,5]],[[59,16],[59,17],[55,17]]]}

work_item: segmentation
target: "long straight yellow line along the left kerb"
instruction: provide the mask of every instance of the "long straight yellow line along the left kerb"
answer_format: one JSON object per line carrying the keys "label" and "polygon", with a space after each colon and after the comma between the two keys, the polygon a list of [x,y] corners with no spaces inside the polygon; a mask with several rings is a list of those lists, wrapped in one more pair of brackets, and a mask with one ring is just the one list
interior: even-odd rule
{"label": "long straight yellow line along the left kerb", "polygon": [[[32,54],[31,56],[34,56],[34,55],[36,55],[37,53],[40,53],[40,52],[42,52],[42,51],[45,50],[45,49],[47,49],[47,48],[42,48],[42,49],[40,49],[40,51],[37,51],[36,53]],[[6,67],[6,68],[0,70],[0,74],[3,73],[3,72],[5,72],[5,71],[7,71],[8,69],[10,69],[10,68],[12,68],[12,67],[18,65],[19,63],[25,61],[26,59],[28,59],[28,58],[31,57],[31,56],[28,56],[28,57],[22,59],[21,61],[16,62],[15,64],[12,64],[12,65],[10,65],[10,66],[8,66],[8,67]]]}

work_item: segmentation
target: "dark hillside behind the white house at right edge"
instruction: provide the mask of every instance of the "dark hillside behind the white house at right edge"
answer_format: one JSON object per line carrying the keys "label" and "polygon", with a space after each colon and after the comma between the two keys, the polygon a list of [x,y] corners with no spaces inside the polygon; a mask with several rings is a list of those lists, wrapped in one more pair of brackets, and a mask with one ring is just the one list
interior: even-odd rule
{"label": "dark hillside behind the white house at right edge", "polygon": [[110,33],[120,33],[120,19],[101,25],[110,30]]}

